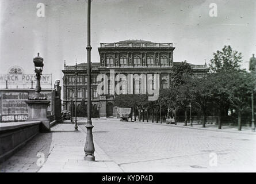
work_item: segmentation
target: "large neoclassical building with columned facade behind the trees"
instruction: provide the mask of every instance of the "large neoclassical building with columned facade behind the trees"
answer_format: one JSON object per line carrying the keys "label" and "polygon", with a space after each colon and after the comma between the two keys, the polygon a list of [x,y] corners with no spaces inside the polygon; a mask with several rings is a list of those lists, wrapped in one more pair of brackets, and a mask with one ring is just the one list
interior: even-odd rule
{"label": "large neoclassical building with columned facade behind the trees", "polygon": [[[159,87],[170,86],[172,67],[181,62],[173,62],[174,47],[172,43],[152,43],[144,40],[125,40],[117,43],[100,43],[98,52],[100,62],[91,64],[91,99],[94,108],[97,107],[100,116],[115,116],[116,107],[113,106],[114,95],[98,95],[97,76],[110,75],[114,70],[117,74],[158,74]],[[190,63],[189,63],[190,64]],[[206,65],[190,64],[195,75],[204,75]],[[82,99],[87,100],[87,64],[67,66],[64,64],[63,76],[63,110],[71,109],[71,94],[75,88],[75,71],[77,71],[77,104]]]}

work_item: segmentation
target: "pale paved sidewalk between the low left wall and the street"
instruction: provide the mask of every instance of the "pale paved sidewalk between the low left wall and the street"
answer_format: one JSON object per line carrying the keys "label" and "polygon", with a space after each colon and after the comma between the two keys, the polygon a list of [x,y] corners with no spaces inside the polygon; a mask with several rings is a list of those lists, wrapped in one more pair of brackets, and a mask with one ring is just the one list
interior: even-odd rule
{"label": "pale paved sidewalk between the low left wall and the street", "polygon": [[[52,127],[50,133],[40,133],[29,141],[17,154],[2,163],[2,172],[78,172],[78,173],[113,173],[123,172],[117,164],[109,159],[94,141],[95,162],[83,160],[86,133],[74,131],[74,124],[64,122]],[[51,139],[51,140],[50,140]]]}

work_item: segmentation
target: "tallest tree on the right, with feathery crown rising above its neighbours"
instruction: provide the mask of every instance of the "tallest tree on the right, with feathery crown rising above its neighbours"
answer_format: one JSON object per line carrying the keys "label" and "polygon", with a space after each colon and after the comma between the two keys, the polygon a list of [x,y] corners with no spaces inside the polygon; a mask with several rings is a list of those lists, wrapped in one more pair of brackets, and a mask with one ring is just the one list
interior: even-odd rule
{"label": "tallest tree on the right, with feathery crown rising above its neighbours", "polygon": [[[241,69],[240,63],[242,63],[242,53],[234,51],[230,45],[224,45],[221,51],[213,53],[213,59],[209,64],[211,74],[208,75],[208,79],[212,83],[212,102],[215,106],[219,129],[221,129],[221,111],[225,112],[227,108],[224,108],[230,106],[232,101],[228,99],[228,95],[235,92],[232,91],[233,88],[230,86],[234,82],[231,75],[245,72]],[[227,86],[231,88],[228,89]]]}

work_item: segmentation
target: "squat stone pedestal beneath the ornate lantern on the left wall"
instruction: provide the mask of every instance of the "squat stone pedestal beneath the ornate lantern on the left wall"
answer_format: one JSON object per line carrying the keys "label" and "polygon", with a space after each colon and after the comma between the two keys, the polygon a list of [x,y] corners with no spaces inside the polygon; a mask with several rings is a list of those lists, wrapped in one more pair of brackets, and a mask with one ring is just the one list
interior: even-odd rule
{"label": "squat stone pedestal beneath the ornate lantern on the left wall", "polygon": [[50,132],[50,122],[47,119],[47,107],[50,104],[48,100],[31,99],[25,101],[28,104],[28,120],[41,121],[40,131]]}

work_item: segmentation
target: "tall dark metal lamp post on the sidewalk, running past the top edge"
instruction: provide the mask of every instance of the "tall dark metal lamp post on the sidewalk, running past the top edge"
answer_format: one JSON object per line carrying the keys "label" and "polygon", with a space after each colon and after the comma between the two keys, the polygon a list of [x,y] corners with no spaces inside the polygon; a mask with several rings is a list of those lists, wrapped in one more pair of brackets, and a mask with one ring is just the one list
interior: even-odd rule
{"label": "tall dark metal lamp post on the sidewalk, running past the top edge", "polygon": [[93,125],[91,123],[91,0],[87,0],[87,124],[86,124],[86,142],[85,142],[85,156],[87,161],[95,161],[94,144],[93,144]]}

